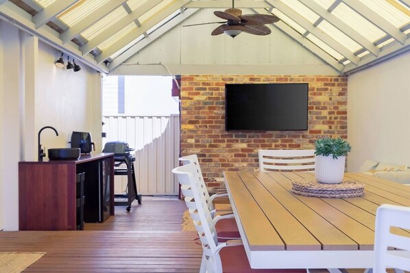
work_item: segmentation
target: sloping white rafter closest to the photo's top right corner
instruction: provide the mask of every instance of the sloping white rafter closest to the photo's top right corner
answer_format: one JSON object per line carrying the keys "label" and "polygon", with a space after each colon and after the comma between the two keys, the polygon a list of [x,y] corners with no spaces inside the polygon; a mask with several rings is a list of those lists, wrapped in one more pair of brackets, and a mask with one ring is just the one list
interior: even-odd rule
{"label": "sloping white rafter closest to the photo's top right corner", "polygon": [[378,28],[385,31],[389,36],[393,37],[395,40],[400,42],[400,44],[405,44],[405,40],[407,39],[407,35],[402,33],[400,29],[395,27],[389,21],[387,21],[382,16],[378,15],[374,12],[370,7],[361,3],[361,1],[357,0],[343,0],[343,3],[346,3],[352,10],[355,10],[357,13],[361,14],[361,16],[367,18],[370,22],[376,25]]}

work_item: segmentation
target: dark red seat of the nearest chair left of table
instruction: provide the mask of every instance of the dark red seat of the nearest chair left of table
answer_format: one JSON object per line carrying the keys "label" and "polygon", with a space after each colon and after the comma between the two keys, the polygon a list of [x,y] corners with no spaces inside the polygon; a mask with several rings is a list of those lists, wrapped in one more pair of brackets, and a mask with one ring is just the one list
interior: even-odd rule
{"label": "dark red seat of the nearest chair left of table", "polygon": [[222,248],[219,255],[221,257],[223,273],[306,273],[306,270],[302,269],[252,269],[250,268],[248,257],[246,257],[245,248],[243,248],[243,246]]}

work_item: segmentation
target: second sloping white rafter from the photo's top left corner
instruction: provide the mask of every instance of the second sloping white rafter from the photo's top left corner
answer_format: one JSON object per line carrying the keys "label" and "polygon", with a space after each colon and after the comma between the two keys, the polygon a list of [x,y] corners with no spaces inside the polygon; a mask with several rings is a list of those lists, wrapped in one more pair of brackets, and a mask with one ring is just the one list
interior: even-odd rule
{"label": "second sloping white rafter from the photo's top left corner", "polygon": [[101,5],[101,7],[94,10],[92,14],[83,18],[80,22],[76,23],[62,34],[60,34],[60,39],[62,40],[63,44],[68,42],[69,40],[73,39],[75,36],[80,34],[84,29],[87,29],[101,18],[115,10],[120,5],[122,5],[126,0],[111,0],[108,1],[106,4]]}

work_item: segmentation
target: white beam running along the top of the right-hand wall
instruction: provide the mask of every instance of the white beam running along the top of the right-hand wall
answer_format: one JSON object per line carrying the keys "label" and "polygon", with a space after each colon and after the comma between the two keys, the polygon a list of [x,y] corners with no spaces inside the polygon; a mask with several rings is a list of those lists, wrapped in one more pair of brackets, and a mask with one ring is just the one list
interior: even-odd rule
{"label": "white beam running along the top of the right-hand wall", "polygon": [[348,64],[344,70],[343,74],[350,75],[352,73],[356,73],[359,70],[367,68],[369,66],[373,66],[374,64],[378,64],[380,62],[384,62],[385,60],[389,60],[396,55],[404,53],[406,51],[410,51],[410,40],[406,40],[405,45],[400,44],[400,42],[391,42],[390,44],[385,45],[383,47],[383,51],[378,55],[378,57],[374,57],[373,55],[365,55],[361,58],[358,66],[352,66]]}

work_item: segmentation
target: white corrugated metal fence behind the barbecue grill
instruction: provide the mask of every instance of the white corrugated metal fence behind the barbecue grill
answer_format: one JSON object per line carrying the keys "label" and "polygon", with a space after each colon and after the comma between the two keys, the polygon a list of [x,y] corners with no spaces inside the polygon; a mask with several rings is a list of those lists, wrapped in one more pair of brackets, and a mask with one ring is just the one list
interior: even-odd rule
{"label": "white corrugated metal fence behind the barbecue grill", "polygon": [[[178,195],[171,173],[179,166],[180,116],[103,116],[103,145],[128,142],[135,150],[134,169],[138,194]],[[125,192],[126,176],[115,177],[115,193]]]}

